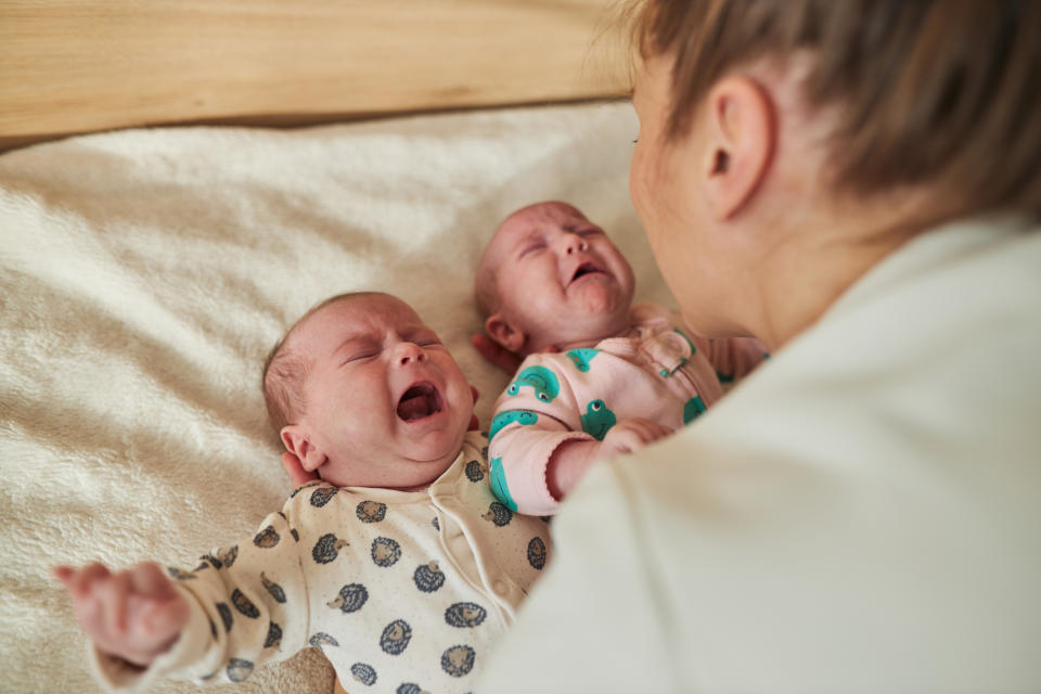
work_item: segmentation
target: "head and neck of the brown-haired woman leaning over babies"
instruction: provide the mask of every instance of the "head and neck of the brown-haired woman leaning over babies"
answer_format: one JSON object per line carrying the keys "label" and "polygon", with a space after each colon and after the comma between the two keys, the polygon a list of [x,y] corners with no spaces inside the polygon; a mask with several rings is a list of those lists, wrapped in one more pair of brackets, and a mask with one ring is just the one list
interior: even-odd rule
{"label": "head and neck of the brown-haired woman leaning over babies", "polygon": [[825,246],[844,248],[835,277],[792,292],[841,291],[948,218],[1041,215],[1041,3],[646,0],[632,10],[643,59],[633,202],[684,312],[706,332],[757,327],[759,277]]}

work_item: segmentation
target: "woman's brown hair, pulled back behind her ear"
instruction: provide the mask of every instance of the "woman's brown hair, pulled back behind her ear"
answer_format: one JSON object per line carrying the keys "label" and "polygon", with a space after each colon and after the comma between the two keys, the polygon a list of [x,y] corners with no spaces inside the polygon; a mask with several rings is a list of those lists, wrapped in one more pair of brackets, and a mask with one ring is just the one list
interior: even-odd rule
{"label": "woman's brown hair, pulled back behind her ear", "polygon": [[839,106],[834,183],[925,185],[950,214],[1041,216],[1041,1],[644,0],[637,49],[674,55],[667,137],[741,64],[813,55],[811,107]]}

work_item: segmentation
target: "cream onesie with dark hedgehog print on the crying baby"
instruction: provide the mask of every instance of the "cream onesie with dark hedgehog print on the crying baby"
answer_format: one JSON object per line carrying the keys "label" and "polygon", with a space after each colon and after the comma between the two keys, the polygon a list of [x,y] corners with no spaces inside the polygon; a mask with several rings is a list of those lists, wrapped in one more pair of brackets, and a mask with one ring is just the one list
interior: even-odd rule
{"label": "cream onesie with dark hedgehog print on the crying baby", "polygon": [[425,491],[300,487],[252,538],[171,569],[181,639],[144,672],[95,654],[113,689],[159,677],[241,682],[320,647],[351,692],[468,692],[550,553],[547,524],[491,494],[470,432]]}

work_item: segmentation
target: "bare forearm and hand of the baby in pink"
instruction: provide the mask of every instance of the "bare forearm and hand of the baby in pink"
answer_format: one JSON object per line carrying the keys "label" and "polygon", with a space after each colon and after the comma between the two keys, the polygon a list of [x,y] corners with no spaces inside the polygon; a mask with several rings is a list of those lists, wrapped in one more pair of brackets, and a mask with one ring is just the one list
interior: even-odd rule
{"label": "bare forearm and hand of the baby in pink", "polygon": [[545,471],[550,493],[563,500],[594,462],[631,453],[670,434],[672,429],[663,424],[634,416],[611,427],[603,441],[564,441],[553,452]]}

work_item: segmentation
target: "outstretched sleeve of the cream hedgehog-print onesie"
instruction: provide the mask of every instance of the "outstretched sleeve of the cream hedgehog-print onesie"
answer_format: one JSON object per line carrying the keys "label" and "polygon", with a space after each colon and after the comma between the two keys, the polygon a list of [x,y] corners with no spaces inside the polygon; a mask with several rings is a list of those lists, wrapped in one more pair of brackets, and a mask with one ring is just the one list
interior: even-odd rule
{"label": "outstretched sleeve of the cream hedgehog-print onesie", "polygon": [[190,606],[180,638],[146,669],[93,650],[101,680],[118,692],[145,691],[160,678],[242,682],[259,665],[306,646],[309,614],[297,537],[290,517],[273,513],[253,537],[203,555],[195,569],[168,569]]}

